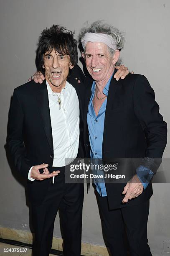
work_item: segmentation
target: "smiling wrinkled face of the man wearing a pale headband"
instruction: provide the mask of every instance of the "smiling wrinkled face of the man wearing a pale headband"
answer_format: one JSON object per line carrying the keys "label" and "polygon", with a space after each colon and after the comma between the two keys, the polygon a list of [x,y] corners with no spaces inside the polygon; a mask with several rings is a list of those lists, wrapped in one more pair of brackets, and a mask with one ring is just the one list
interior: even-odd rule
{"label": "smiling wrinkled face of the man wearing a pale headband", "polygon": [[86,68],[95,81],[106,82],[113,74],[116,61],[106,44],[87,42],[84,57]]}

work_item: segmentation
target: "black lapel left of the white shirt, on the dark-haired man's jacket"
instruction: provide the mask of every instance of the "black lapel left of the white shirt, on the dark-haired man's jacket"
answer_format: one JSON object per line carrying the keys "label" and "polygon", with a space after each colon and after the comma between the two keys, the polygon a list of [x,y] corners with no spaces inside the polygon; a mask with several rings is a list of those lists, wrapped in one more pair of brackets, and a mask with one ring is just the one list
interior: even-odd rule
{"label": "black lapel left of the white shirt, on the dark-haired man's jacket", "polygon": [[49,146],[53,153],[53,136],[52,136],[50,107],[49,107],[49,101],[48,101],[48,91],[46,87],[46,80],[43,81],[43,84],[38,84],[36,99],[38,102],[38,108],[42,118],[44,131],[46,133]]}

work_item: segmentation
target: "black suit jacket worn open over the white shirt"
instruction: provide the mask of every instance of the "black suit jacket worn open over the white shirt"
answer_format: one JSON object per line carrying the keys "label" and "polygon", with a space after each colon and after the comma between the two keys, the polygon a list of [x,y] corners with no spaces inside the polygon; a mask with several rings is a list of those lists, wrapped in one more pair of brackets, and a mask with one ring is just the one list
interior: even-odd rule
{"label": "black suit jacket worn open over the white shirt", "polygon": [[[73,85],[79,98],[80,138],[78,157],[84,157],[83,108],[84,74],[79,66],[74,67],[67,81]],[[28,178],[31,166],[53,164],[53,138],[46,80],[43,84],[28,82],[14,90],[8,121],[7,143],[18,172]],[[33,202],[41,202],[49,180],[28,181],[28,192]]]}

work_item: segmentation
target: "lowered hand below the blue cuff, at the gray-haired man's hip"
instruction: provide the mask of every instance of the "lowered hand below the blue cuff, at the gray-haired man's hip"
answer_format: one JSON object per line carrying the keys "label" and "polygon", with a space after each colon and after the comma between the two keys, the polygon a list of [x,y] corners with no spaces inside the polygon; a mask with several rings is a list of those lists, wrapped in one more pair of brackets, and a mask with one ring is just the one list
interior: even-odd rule
{"label": "lowered hand below the blue cuff, at the gray-haired man's hip", "polygon": [[138,197],[143,192],[143,185],[140,182],[140,179],[135,174],[129,182],[127,182],[126,186],[122,194],[126,194],[122,202],[128,202],[134,197]]}

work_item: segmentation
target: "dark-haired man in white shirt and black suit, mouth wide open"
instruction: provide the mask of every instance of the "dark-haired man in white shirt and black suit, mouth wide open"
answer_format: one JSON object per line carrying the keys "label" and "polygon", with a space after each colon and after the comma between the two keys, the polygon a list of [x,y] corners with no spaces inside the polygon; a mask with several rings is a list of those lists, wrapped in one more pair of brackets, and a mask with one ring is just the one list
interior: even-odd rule
{"label": "dark-haired man in white shirt and black suit, mouth wide open", "polygon": [[[17,87],[10,108],[7,141],[16,169],[28,179],[34,256],[49,255],[59,207],[64,255],[81,253],[84,187],[65,184],[65,159],[84,157],[84,74],[76,66],[78,54],[73,36],[58,25],[42,31],[36,63],[46,79],[43,84],[31,81]],[[68,77],[74,66],[76,79]]]}

